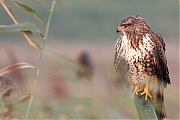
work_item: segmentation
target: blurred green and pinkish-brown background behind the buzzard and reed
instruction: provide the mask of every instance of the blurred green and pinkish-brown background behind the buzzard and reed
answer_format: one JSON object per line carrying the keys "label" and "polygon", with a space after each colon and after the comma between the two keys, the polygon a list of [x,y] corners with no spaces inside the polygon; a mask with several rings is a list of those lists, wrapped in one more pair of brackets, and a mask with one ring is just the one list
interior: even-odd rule
{"label": "blurred green and pinkish-brown background behind the buzzard and reed", "polygon": [[[22,2],[48,18],[40,2]],[[45,25],[10,0],[7,3],[21,21],[32,22],[44,32]],[[169,119],[179,118],[179,3],[170,0],[57,0],[30,118],[138,118],[131,95],[113,68],[114,45],[120,35],[115,31],[119,22],[131,15],[143,17],[165,39],[171,78],[171,85],[165,89],[165,107]],[[13,24],[2,6],[0,16],[0,25]],[[0,68],[16,62],[36,66],[39,55],[20,32],[0,33]],[[79,70],[76,63],[88,71]],[[6,77],[17,84],[18,95],[22,96],[30,93],[34,75],[33,70],[25,69]],[[28,102],[14,104],[13,118],[26,116]],[[0,114],[4,115],[3,109]]]}

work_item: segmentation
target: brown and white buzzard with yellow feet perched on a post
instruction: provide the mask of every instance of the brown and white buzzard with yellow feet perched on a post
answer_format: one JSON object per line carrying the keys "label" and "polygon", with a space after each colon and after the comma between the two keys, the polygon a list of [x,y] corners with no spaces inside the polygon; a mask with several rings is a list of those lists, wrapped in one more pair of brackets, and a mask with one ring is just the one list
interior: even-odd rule
{"label": "brown and white buzzard with yellow feet perched on a post", "polygon": [[116,33],[115,70],[134,94],[151,98],[158,119],[166,118],[164,89],[170,84],[165,43],[139,15],[123,19]]}

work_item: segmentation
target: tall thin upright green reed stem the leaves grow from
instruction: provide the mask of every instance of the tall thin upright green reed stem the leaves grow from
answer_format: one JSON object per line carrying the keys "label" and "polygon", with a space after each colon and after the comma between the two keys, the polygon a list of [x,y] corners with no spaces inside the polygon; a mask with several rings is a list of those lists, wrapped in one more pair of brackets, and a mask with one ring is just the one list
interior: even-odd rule
{"label": "tall thin upright green reed stem the leaves grow from", "polygon": [[[50,9],[50,13],[49,13],[49,18],[48,18],[48,22],[47,22],[47,26],[46,26],[46,31],[45,31],[45,36],[43,38],[44,42],[43,42],[43,46],[42,46],[42,51],[40,53],[39,62],[38,62],[38,65],[37,65],[37,70],[39,70],[40,64],[41,64],[41,61],[42,61],[42,56],[43,56],[43,52],[44,52],[44,49],[45,49],[46,39],[47,39],[47,36],[48,36],[50,21],[51,21],[51,18],[52,18],[52,13],[53,13],[55,4],[56,4],[56,1],[52,0],[51,9]],[[31,88],[31,98],[30,98],[29,105],[28,105],[28,108],[27,108],[26,119],[29,118],[29,111],[30,111],[31,104],[33,102],[33,95],[34,95],[34,90],[35,90],[35,87],[36,87],[36,82],[37,82],[37,76],[36,76],[36,79],[34,80],[34,85]]]}

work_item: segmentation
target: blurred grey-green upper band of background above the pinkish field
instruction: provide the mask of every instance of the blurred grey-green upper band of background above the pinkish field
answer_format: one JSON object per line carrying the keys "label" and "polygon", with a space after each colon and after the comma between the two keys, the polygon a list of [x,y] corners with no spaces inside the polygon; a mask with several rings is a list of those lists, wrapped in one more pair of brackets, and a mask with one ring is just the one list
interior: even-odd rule
{"label": "blurred grey-green upper band of background above the pinkish field", "polygon": [[[9,1],[7,0],[7,2]],[[41,15],[48,17],[47,11],[40,3],[29,0],[23,0],[23,2],[40,11]],[[178,41],[178,1],[59,0],[56,5],[49,32],[51,38],[69,41],[117,39],[115,30],[120,20],[130,15],[139,14],[147,21],[153,31],[160,33],[166,40],[173,38]],[[24,16],[24,21],[33,21],[18,8],[14,7],[14,9],[17,15]],[[2,7],[0,7],[0,16],[3,16],[0,24],[12,23]],[[38,28],[45,29],[42,24],[38,24]],[[13,35],[1,35],[1,38],[10,39],[11,37]],[[16,35],[16,37],[18,36]]]}

